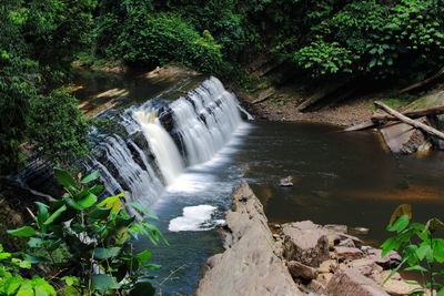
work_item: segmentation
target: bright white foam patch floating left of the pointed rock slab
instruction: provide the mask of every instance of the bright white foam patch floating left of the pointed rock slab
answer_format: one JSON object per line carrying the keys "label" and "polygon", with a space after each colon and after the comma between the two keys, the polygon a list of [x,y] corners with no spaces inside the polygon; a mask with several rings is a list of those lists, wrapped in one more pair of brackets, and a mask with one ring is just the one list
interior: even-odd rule
{"label": "bright white foam patch floating left of the pointed rock slab", "polygon": [[216,210],[212,205],[195,205],[185,206],[182,216],[175,217],[170,221],[168,229],[170,232],[199,232],[209,231],[211,226],[211,215]]}

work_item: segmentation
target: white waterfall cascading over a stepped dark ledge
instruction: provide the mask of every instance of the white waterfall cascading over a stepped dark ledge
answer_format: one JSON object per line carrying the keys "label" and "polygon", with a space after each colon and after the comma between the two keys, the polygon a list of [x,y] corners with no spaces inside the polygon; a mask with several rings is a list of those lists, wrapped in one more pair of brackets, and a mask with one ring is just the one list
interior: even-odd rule
{"label": "white waterfall cascading over a stepped dark ledge", "polygon": [[101,172],[109,194],[127,191],[144,204],[157,201],[185,166],[210,161],[242,123],[236,96],[216,78],[174,101],[158,98],[112,120],[113,133],[98,132],[87,169]]}

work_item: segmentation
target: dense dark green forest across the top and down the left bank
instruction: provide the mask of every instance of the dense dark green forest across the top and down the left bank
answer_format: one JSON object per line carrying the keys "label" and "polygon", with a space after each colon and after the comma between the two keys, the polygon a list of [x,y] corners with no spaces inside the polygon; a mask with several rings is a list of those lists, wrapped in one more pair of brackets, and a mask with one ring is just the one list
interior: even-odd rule
{"label": "dense dark green forest across the top and down the left bank", "polygon": [[2,173],[17,170],[26,142],[58,164],[88,150],[75,100],[60,90],[78,57],[180,63],[232,81],[261,57],[314,79],[410,82],[443,65],[443,0],[2,1]]}

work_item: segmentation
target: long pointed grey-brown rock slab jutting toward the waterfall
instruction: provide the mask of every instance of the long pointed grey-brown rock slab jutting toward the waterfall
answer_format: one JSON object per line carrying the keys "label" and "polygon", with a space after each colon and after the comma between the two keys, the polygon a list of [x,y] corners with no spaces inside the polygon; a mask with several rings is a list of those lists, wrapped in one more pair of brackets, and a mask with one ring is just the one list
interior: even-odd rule
{"label": "long pointed grey-brown rock slab jutting toward the waterfall", "polygon": [[302,295],[279,258],[262,205],[242,182],[226,214],[226,251],[209,259],[199,284],[200,296]]}

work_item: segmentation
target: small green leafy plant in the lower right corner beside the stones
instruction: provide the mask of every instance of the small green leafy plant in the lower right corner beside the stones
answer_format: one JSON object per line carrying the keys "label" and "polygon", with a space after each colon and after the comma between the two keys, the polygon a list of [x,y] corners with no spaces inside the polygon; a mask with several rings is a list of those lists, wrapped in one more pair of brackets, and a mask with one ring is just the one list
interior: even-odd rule
{"label": "small green leafy plant in the lower right corner beside the stones", "polygon": [[444,275],[444,238],[436,236],[436,233],[444,229],[444,223],[437,218],[432,218],[426,224],[412,222],[408,207],[410,205],[401,205],[396,208],[387,226],[387,231],[395,234],[382,244],[382,256],[391,251],[402,251],[403,261],[383,284],[407,265],[404,271],[416,271],[423,276],[424,284],[415,284],[418,287],[414,289],[414,295],[425,295],[427,289],[431,295],[434,295],[433,290],[443,295],[444,285],[438,278]]}

